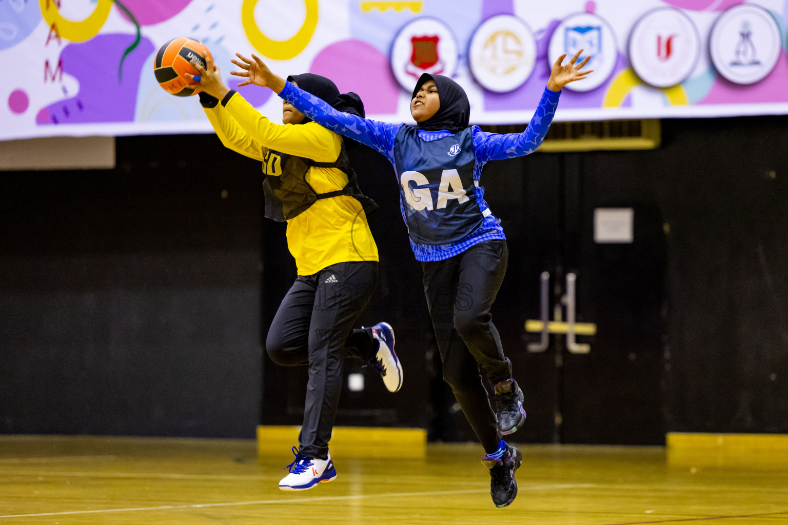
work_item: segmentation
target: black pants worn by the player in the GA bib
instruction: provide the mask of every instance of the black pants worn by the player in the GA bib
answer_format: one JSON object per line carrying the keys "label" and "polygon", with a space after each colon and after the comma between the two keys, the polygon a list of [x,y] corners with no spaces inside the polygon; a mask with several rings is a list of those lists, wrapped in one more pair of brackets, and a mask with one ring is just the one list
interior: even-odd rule
{"label": "black pants worn by the player in the GA bib", "polygon": [[508,257],[506,241],[490,240],[444,261],[422,262],[444,379],[488,453],[498,448],[500,434],[481,375],[492,385],[511,378],[511,362],[489,312]]}

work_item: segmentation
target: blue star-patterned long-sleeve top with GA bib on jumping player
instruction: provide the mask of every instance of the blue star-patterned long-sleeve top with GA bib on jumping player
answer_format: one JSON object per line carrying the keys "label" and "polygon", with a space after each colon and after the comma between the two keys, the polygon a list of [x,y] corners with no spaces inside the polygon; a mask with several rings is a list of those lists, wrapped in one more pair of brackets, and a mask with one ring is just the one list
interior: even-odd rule
{"label": "blue star-patterned long-sleeve top with GA bib on jumping player", "polygon": [[[366,146],[374,148],[388,158],[388,161],[394,165],[398,182],[401,182],[400,208],[402,209],[403,219],[409,226],[411,248],[413,249],[416,259],[418,261],[442,261],[449,257],[454,257],[459,253],[463,253],[463,251],[470,248],[470,246],[474,246],[479,242],[489,239],[506,238],[503,228],[498,224],[499,221],[492,215],[492,211],[484,200],[485,189],[479,184],[481,169],[488,161],[522,157],[523,155],[533,153],[533,151],[541,145],[542,141],[544,141],[545,135],[547,135],[552,118],[556,113],[560,91],[551,91],[545,88],[545,92],[542,94],[539,105],[537,106],[536,113],[534,113],[525,131],[522,131],[522,133],[507,133],[505,135],[481,131],[481,128],[478,126],[471,127],[470,131],[459,131],[457,134],[452,134],[450,131],[416,131],[414,126],[409,124],[390,124],[377,120],[363,119],[359,116],[341,113],[333,109],[331,105],[321,98],[301,90],[290,82],[285,83],[284,89],[279,96],[294,105],[301,113],[304,113],[310,119],[321,124],[325,128],[329,128],[340,135],[366,144]],[[423,169],[424,161],[422,158],[425,156],[425,148],[437,146],[437,144],[427,145],[425,144],[426,142],[440,141],[441,139],[455,137],[455,135],[459,137],[459,135],[465,134],[466,131],[470,132],[470,138],[472,139],[472,175],[469,168],[469,180],[467,181],[466,194],[460,195],[458,198],[459,193],[457,191],[450,191],[448,192],[448,198],[455,199],[454,202],[460,204],[464,203],[464,207],[472,204],[472,211],[463,212],[466,215],[469,213],[476,213],[477,215],[481,213],[481,215],[478,216],[478,220],[475,222],[471,221],[471,223],[468,223],[466,221],[466,224],[472,224],[473,227],[470,231],[463,231],[461,238],[447,238],[446,242],[442,242],[440,241],[442,232],[440,213],[437,213],[437,222],[435,220],[432,222],[426,221],[422,219],[422,216],[426,216],[428,213],[436,214],[436,211],[444,212],[445,209],[447,209],[447,199],[445,198],[447,194],[446,191],[452,188],[452,186],[455,190],[457,189],[460,183],[459,178],[462,178],[462,174],[459,174],[459,178],[457,179],[449,179],[448,182],[446,182],[445,174],[449,172],[449,176],[451,176],[453,172],[454,175],[458,175],[456,169],[450,169],[453,167],[451,161],[457,159],[459,162],[460,157],[463,156],[456,155],[456,153],[448,153],[448,156],[452,157],[448,158],[437,157],[437,153],[434,152],[429,153],[430,157],[439,159],[441,163],[439,167],[436,165],[438,171],[442,171],[444,174],[444,181],[440,183],[440,190],[438,190],[439,184],[437,182],[430,186],[427,184],[427,179],[423,177],[424,185],[421,187],[418,185],[411,187],[410,184],[413,183],[414,180],[411,177],[409,181],[406,181],[405,178],[408,174],[412,173],[421,176],[421,173],[415,171],[414,168],[422,166],[422,171],[425,171]],[[408,137],[410,137],[410,139],[408,139]],[[418,139],[416,139],[416,137],[418,137]],[[411,142],[414,140],[421,140],[423,142],[421,145],[418,145],[412,144],[411,142],[405,142],[407,140]],[[459,145],[454,146],[454,148],[457,149],[459,149],[459,147]],[[435,148],[433,148],[433,150],[435,150]],[[455,151],[455,149],[452,149],[452,152],[453,151]],[[444,150],[440,150],[440,153],[444,153]],[[465,155],[465,153],[463,153],[463,155]],[[435,165],[435,162],[436,161],[433,161],[433,165]],[[458,165],[456,168],[462,170],[463,167]],[[400,176],[403,176],[403,178],[400,179]],[[472,181],[470,180],[471,176]],[[435,175],[435,177],[440,177],[440,175]],[[417,179],[417,184],[418,181],[422,179]],[[462,182],[463,187],[466,186],[466,181],[463,180]],[[421,199],[424,195],[429,195],[429,189],[424,190],[420,188],[432,188],[433,194],[438,196],[438,204],[433,205],[432,198],[430,198],[429,203],[426,205],[423,202],[420,204],[415,202],[414,195],[416,196],[416,201]],[[424,191],[427,191],[427,194],[424,194]],[[440,209],[441,194],[444,195],[444,209]],[[451,206],[448,208],[448,211],[451,212]],[[433,225],[431,229],[435,231],[432,232],[433,235],[429,236],[429,242],[424,242],[422,240],[424,235],[415,235],[413,228],[414,221],[411,218],[413,216],[418,220],[422,220],[422,222],[419,223],[422,231],[430,228],[429,225]],[[454,223],[457,222],[455,217],[447,217],[446,222],[451,223],[452,221]],[[424,224],[426,224],[426,226],[423,226]],[[435,238],[438,240],[434,240]]]}

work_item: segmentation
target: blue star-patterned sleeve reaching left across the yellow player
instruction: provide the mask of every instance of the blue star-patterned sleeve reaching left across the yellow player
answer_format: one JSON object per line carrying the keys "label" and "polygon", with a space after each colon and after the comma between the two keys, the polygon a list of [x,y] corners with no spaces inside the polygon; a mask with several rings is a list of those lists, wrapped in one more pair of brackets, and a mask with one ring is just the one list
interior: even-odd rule
{"label": "blue star-patterned sleeve reaching left across the yellow player", "polygon": [[279,96],[323,128],[329,128],[340,135],[374,148],[394,164],[394,138],[402,124],[367,120],[350,113],[336,111],[328,102],[293,86],[290,82],[284,83],[284,89]]}

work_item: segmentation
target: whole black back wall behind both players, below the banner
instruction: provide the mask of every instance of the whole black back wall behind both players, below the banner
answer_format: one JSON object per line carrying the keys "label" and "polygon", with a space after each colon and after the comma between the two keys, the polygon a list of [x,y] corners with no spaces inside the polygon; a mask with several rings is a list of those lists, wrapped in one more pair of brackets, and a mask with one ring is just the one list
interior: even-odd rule
{"label": "whole black back wall behind both players, below the banner", "polygon": [[[529,257],[538,242],[574,236],[592,257],[578,286],[585,275],[615,274],[605,261],[624,256],[589,242],[595,205],[632,205],[662,221],[661,262],[652,266],[663,286],[652,288],[663,322],[649,326],[649,349],[611,357],[626,362],[607,368],[615,372],[597,378],[600,397],[585,402],[614,411],[648,402],[660,432],[788,432],[786,143],[786,117],[665,120],[658,150],[539,153],[485,168],[489,203],[510,238],[493,314],[530,390],[536,430],[523,436],[561,435],[537,432],[553,414],[533,392],[560,381],[552,357],[529,357],[534,337],[522,329],[538,302],[529,268],[560,253],[538,264]],[[362,188],[381,202],[370,221],[381,281],[361,322],[393,320],[408,368],[399,397],[379,386],[366,397],[345,392],[339,423],[426,425],[433,438],[472,439],[440,379],[391,168],[355,154]],[[117,156],[111,171],[0,174],[0,431],[250,437],[261,414],[297,423],[306,370],[303,384],[279,384],[299,372],[259,355],[295,265],[283,226],[262,224],[258,163],[213,135],[120,138]],[[567,209],[555,211],[570,190],[574,225]],[[629,308],[620,306],[631,320]],[[578,320],[600,315],[582,313]],[[601,330],[597,349],[615,342]],[[570,377],[589,379],[584,370]],[[616,385],[640,377],[656,378],[649,399],[619,405],[629,390]],[[283,387],[297,395],[285,401]],[[562,402],[570,417],[571,399]],[[607,439],[576,427],[573,442]]]}

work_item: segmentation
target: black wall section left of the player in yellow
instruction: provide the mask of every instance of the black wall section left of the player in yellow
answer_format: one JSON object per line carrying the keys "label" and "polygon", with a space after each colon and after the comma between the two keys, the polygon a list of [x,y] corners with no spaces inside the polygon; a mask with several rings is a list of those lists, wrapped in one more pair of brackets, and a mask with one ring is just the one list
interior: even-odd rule
{"label": "black wall section left of the player in yellow", "polygon": [[254,435],[258,170],[188,135],[0,173],[0,432]]}

